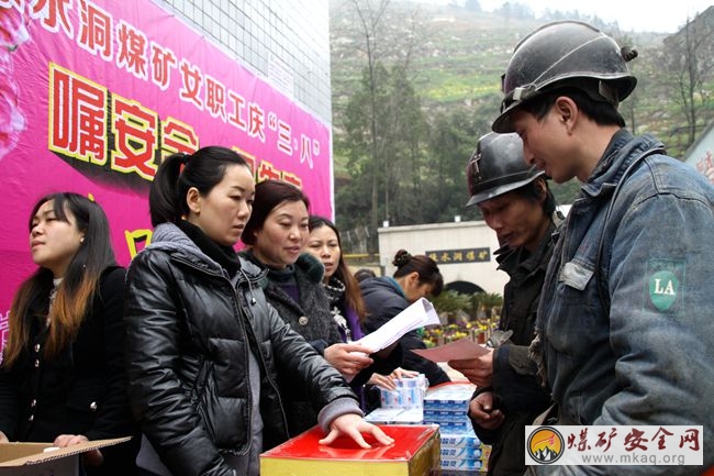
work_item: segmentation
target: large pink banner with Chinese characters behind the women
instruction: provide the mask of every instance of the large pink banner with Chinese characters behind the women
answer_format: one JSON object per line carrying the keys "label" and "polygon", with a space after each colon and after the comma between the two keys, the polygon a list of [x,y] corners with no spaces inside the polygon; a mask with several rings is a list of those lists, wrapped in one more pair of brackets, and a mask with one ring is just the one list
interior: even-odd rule
{"label": "large pink banner with Chinese characters behind the women", "polygon": [[327,124],[149,0],[0,0],[0,329],[34,269],[41,196],[91,195],[126,265],[150,242],[160,157],[233,147],[256,180],[294,182],[332,217],[331,141]]}

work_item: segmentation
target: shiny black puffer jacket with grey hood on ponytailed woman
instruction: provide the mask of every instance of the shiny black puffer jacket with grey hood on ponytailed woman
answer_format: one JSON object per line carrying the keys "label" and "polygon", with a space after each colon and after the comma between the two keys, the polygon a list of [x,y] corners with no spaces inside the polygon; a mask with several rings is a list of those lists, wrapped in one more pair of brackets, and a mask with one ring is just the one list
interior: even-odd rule
{"label": "shiny black puffer jacket with grey hood on ponytailed woman", "polygon": [[355,399],[341,375],[266,302],[258,278],[258,269],[242,261],[236,292],[223,268],[168,223],[156,228],[153,244],[129,268],[132,408],[176,476],[231,475],[221,454],[249,451],[252,351],[260,366],[264,449],[288,438],[278,370],[294,375],[316,409]]}

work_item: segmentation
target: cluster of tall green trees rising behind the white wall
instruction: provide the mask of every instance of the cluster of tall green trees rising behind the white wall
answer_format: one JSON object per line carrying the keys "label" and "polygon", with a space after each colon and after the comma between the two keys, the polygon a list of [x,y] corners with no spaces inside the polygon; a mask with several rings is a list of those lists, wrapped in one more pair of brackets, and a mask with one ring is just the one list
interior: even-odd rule
{"label": "cluster of tall green trees rising behind the white wall", "polygon": [[[347,158],[353,180],[336,193],[342,226],[403,217],[423,220],[419,198],[428,175],[424,142],[428,128],[404,69],[388,70],[381,62],[371,71],[365,69],[360,89],[346,106],[344,129],[345,136],[335,147]],[[371,217],[372,193],[379,198],[379,217]],[[399,207],[391,207],[393,202]],[[365,211],[369,211],[368,220]]]}

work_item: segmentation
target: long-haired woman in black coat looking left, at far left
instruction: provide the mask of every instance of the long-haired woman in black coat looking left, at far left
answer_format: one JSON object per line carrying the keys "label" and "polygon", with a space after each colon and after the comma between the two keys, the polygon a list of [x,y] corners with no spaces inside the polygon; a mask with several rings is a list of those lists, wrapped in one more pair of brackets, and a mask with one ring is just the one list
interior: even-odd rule
{"label": "long-haired woman in black coat looking left, at far left", "polygon": [[[96,202],[42,198],[30,219],[40,267],[18,290],[0,368],[0,441],[69,446],[135,432],[126,395],[122,295]],[[137,441],[85,454],[88,475],[135,474]]]}

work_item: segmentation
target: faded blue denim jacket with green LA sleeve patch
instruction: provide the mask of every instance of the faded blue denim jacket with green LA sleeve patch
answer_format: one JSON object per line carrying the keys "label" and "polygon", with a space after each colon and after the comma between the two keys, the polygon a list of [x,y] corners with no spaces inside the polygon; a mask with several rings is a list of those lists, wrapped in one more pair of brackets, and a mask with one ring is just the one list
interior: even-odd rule
{"label": "faded blue denim jacket with green LA sleeve patch", "polygon": [[[706,467],[714,463],[714,187],[658,153],[623,179],[657,147],[651,136],[615,134],[561,229],[537,326],[559,424],[703,425]],[[627,474],[660,469],[703,471],[628,466]]]}

